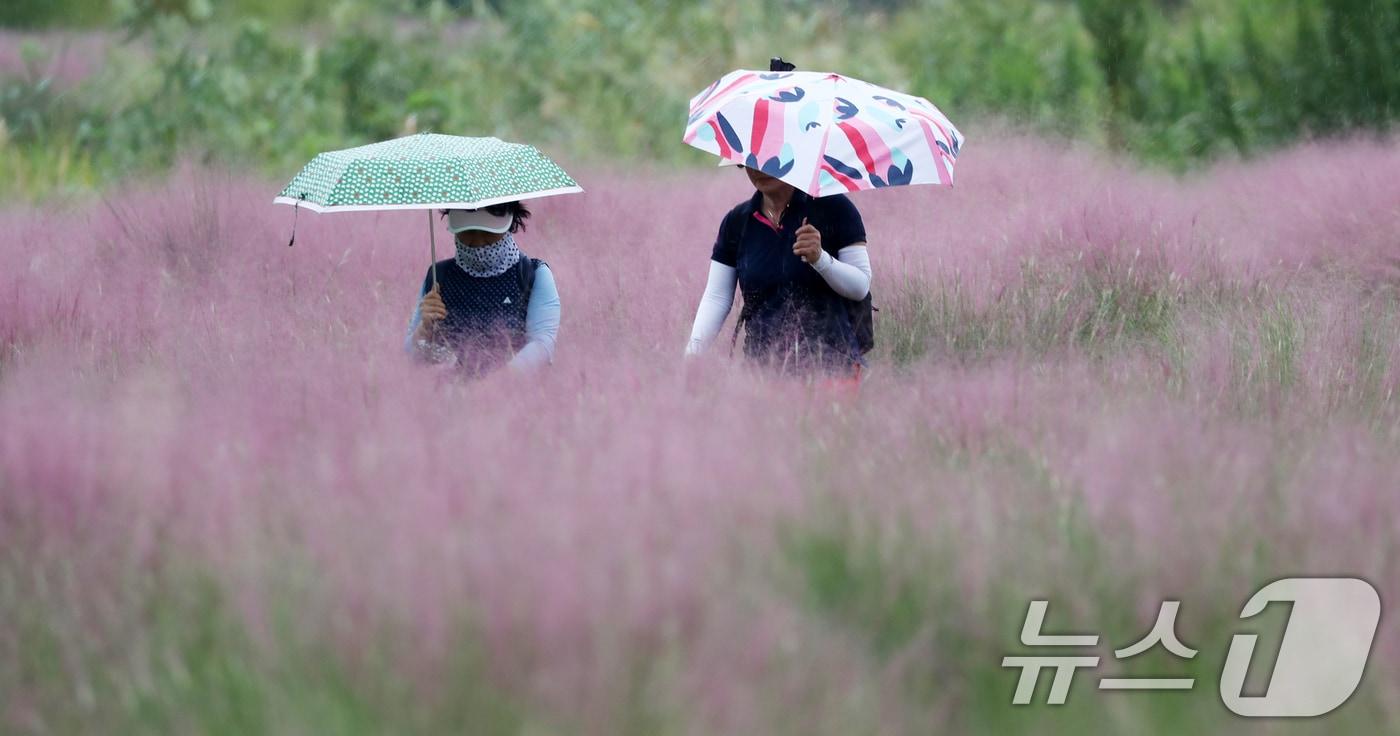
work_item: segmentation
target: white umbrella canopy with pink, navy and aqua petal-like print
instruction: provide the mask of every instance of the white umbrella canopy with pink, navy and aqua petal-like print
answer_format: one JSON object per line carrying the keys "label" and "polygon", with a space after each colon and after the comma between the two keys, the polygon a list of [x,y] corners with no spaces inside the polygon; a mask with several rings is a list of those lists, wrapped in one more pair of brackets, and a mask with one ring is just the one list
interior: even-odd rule
{"label": "white umbrella canopy with pink, navy and aqua petal-like print", "polygon": [[921,97],[840,74],[741,69],[690,99],[685,141],[823,197],[952,186],[963,136]]}

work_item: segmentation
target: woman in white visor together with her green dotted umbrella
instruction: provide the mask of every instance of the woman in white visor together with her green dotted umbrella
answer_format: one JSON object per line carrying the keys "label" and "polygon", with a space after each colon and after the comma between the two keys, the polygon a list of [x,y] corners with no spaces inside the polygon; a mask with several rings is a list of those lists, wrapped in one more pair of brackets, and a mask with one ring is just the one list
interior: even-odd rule
{"label": "woman in white visor together with her green dotted umbrella", "polygon": [[[515,234],[529,218],[524,200],[578,192],[578,182],[533,146],[419,133],[318,154],[274,201],[316,213],[427,210],[433,264],[406,348],[479,375],[553,361],[554,274],[521,253]],[[442,221],[456,255],[437,260]]]}

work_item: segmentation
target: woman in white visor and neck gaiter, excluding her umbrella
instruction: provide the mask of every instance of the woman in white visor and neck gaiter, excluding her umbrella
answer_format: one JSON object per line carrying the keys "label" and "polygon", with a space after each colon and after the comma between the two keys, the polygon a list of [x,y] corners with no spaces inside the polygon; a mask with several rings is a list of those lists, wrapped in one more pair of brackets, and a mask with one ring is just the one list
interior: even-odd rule
{"label": "woman in white visor and neck gaiter, excluding her umbrella", "polygon": [[515,243],[526,218],[529,210],[519,201],[444,213],[456,255],[435,263],[435,283],[434,269],[423,277],[409,351],[472,375],[553,361],[559,290],[549,266]]}

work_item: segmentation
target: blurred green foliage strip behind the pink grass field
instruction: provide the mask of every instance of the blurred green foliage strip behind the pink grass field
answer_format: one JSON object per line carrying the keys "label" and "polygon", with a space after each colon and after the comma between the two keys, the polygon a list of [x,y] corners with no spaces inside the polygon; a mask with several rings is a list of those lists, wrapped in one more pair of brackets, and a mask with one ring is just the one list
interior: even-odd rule
{"label": "blurred green foliage strip behind the pink grass field", "polygon": [[0,24],[116,41],[76,90],[43,43],[0,80],[10,194],[410,130],[685,162],[689,97],[771,55],[1177,169],[1400,112],[1400,0],[10,0]]}

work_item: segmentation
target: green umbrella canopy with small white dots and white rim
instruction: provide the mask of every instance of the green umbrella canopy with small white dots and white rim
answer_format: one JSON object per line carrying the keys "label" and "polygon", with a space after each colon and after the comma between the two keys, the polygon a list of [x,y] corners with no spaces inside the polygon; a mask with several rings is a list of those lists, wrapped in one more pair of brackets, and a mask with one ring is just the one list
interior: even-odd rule
{"label": "green umbrella canopy with small white dots and white rim", "polygon": [[533,146],[419,133],[318,154],[274,199],[318,213],[475,210],[582,192]]}

